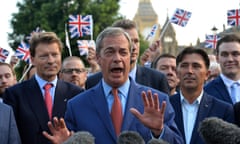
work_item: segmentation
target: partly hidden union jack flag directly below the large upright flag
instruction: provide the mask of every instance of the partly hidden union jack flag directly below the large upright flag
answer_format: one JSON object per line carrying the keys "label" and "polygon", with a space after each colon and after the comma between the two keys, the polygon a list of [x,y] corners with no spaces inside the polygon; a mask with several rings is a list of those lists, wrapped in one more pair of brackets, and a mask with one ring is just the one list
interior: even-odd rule
{"label": "partly hidden union jack flag directly below the large upright flag", "polygon": [[93,40],[77,40],[78,50],[81,56],[88,55],[88,47],[95,49],[95,42]]}

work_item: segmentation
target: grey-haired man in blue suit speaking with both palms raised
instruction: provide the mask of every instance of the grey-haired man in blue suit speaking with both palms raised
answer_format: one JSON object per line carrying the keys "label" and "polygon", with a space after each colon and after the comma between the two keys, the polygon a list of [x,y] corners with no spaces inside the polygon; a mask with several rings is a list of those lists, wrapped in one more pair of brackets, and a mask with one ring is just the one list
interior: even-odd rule
{"label": "grey-haired man in blue suit speaking with both palms raised", "polygon": [[[103,79],[93,88],[77,95],[68,102],[65,121],[68,129],[88,131],[96,144],[115,144],[119,133],[115,132],[111,118],[113,103],[120,99],[122,123],[120,131],[136,131],[145,142],[162,138],[171,144],[183,143],[174,122],[174,110],[168,95],[150,87],[138,85],[129,78],[131,39],[121,28],[106,28],[96,40],[97,61]],[[119,96],[113,97],[112,89]],[[142,95],[142,98],[141,98]],[[116,99],[115,99],[116,98]],[[49,123],[52,136],[44,132],[54,144],[70,136],[64,120]]]}

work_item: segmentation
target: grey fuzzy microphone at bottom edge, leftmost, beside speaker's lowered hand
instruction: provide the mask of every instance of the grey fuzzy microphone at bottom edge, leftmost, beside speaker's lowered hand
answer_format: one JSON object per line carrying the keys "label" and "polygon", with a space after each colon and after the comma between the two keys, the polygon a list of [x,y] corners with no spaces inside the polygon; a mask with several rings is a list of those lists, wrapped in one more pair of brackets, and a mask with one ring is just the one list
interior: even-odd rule
{"label": "grey fuzzy microphone at bottom edge, leftmost, beside speaker's lowered hand", "polygon": [[95,137],[87,131],[74,133],[63,144],[95,144]]}

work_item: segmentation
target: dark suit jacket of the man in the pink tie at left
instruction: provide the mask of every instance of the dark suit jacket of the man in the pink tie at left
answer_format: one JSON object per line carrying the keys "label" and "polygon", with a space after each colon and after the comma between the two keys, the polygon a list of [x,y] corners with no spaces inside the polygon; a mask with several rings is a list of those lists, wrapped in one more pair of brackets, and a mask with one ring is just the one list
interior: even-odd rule
{"label": "dark suit jacket of the man in the pink tie at left", "polygon": [[[53,116],[64,117],[67,100],[82,92],[79,87],[58,80]],[[48,144],[50,143],[42,131],[49,131],[49,121],[44,98],[35,77],[6,89],[4,102],[11,105],[20,137],[23,144]]]}

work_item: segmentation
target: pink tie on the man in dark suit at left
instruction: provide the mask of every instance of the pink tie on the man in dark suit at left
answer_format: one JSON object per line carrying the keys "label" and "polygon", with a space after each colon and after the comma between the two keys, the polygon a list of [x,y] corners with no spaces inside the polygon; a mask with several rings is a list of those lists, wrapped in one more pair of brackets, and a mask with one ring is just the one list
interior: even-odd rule
{"label": "pink tie on the man in dark suit at left", "polygon": [[44,89],[45,89],[45,93],[44,93],[45,104],[46,104],[46,107],[47,107],[48,116],[49,116],[50,120],[52,119],[52,97],[51,97],[51,94],[50,94],[50,88],[51,87],[52,87],[51,83],[47,83],[44,86]]}

